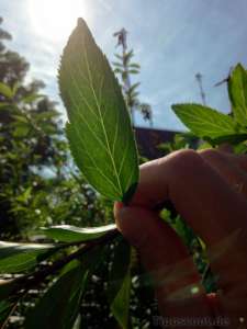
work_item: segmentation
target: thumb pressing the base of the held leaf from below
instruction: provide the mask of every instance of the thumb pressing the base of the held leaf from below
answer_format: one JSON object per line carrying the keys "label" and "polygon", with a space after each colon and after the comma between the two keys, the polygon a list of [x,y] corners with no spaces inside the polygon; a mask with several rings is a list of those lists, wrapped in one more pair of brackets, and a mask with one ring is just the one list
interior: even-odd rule
{"label": "thumb pressing the base of the held leaf from below", "polygon": [[199,273],[175,230],[144,207],[115,203],[114,214],[119,230],[138,250],[153,277],[160,313],[190,316],[197,310],[197,315],[210,315]]}

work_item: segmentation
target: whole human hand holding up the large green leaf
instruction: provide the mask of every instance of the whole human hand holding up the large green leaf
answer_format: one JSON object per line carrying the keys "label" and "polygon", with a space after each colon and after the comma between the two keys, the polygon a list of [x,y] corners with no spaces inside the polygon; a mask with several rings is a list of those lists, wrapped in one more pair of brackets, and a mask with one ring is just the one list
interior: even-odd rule
{"label": "whole human hand holding up the large green leaf", "polygon": [[[186,246],[155,211],[168,200],[206,243],[218,276],[216,296],[206,295]],[[246,328],[239,327],[247,321],[246,156],[180,150],[144,163],[131,204],[116,203],[114,211],[119,229],[153,275],[164,317],[221,316],[228,328]]]}

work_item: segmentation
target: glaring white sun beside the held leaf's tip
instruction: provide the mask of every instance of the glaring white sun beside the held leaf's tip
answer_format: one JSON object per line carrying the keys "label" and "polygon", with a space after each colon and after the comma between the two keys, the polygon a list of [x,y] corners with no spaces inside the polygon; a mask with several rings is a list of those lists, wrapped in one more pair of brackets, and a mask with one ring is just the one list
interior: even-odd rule
{"label": "glaring white sun beside the held leaf's tip", "polygon": [[77,19],[88,19],[87,0],[27,0],[34,32],[52,42],[60,42],[75,27]]}

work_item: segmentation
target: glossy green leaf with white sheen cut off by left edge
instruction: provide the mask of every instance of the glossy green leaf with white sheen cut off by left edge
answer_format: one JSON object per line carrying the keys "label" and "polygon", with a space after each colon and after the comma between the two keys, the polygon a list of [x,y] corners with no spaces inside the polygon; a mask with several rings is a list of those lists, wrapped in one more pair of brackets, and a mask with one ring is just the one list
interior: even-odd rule
{"label": "glossy green leaf with white sheen cut off by left edge", "polygon": [[12,243],[0,241],[0,273],[18,273],[35,266],[57,249],[53,245]]}

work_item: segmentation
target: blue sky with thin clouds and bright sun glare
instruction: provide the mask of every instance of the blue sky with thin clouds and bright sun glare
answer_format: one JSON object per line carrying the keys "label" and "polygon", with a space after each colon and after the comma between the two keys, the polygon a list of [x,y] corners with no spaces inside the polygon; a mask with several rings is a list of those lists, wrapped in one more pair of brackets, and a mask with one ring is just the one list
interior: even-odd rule
{"label": "blue sky with thin clouds and bright sun glare", "polygon": [[[142,66],[141,100],[153,106],[158,128],[184,129],[170,105],[201,102],[198,71],[207,105],[228,112],[226,86],[213,84],[236,63],[247,66],[246,0],[1,0],[0,15],[13,35],[9,46],[31,64],[29,79],[44,80],[54,100],[59,56],[77,16],[110,60],[117,52],[112,34],[124,26]],[[146,125],[139,115],[137,124]]]}

